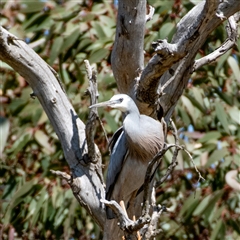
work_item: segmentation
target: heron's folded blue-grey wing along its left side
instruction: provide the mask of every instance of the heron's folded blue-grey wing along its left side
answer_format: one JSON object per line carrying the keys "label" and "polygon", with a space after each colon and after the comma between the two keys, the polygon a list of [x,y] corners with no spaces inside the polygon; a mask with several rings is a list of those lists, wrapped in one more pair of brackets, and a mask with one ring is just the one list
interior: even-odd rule
{"label": "heron's folded blue-grey wing along its left side", "polygon": [[[120,131],[120,132],[118,132]],[[124,159],[127,155],[127,140],[125,133],[123,129],[119,129],[116,132],[116,136],[114,134],[112,141],[114,144],[112,144],[112,150],[111,150],[111,158],[110,163],[108,166],[108,172],[107,172],[107,182],[106,182],[106,199],[111,200],[112,192],[115,186],[115,183],[117,182],[117,178],[119,176],[119,173],[121,172],[122,165],[124,162]],[[107,218],[111,219],[114,218],[115,215],[112,212],[110,208],[106,208]]]}

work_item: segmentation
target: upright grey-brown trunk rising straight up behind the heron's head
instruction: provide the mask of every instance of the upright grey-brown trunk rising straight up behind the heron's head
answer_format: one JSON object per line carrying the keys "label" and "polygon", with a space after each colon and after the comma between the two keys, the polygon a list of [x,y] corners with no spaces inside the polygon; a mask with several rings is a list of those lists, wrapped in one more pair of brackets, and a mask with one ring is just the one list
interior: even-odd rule
{"label": "upright grey-brown trunk rising straight up behind the heron's head", "polygon": [[119,91],[132,97],[135,81],[144,67],[145,16],[146,0],[119,1],[111,64]]}

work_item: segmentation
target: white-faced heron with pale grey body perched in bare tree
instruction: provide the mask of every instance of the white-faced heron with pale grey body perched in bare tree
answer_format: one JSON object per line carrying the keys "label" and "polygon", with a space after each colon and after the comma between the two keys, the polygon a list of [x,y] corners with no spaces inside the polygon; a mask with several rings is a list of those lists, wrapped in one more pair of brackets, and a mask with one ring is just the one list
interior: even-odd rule
{"label": "white-faced heron with pale grey body perched in bare tree", "polygon": [[[125,114],[123,127],[117,130],[110,142],[106,199],[118,203],[123,200],[126,206],[130,206],[144,183],[148,163],[163,147],[163,126],[159,121],[140,114],[128,95],[114,95],[109,101],[90,108],[103,106],[119,109]],[[114,218],[111,209],[106,210],[107,217]]]}

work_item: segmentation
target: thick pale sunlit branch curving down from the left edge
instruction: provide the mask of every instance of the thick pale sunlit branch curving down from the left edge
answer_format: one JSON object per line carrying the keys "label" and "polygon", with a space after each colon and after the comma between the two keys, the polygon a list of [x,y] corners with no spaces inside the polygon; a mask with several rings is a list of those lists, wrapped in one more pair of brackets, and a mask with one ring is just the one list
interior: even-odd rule
{"label": "thick pale sunlit branch curving down from the left edge", "polygon": [[[70,166],[75,197],[103,228],[105,210],[100,199],[105,196],[102,184],[101,157],[96,163],[88,159],[85,125],[69,102],[55,71],[25,42],[0,26],[0,60],[22,75],[39,99]],[[87,162],[88,164],[86,164]]]}

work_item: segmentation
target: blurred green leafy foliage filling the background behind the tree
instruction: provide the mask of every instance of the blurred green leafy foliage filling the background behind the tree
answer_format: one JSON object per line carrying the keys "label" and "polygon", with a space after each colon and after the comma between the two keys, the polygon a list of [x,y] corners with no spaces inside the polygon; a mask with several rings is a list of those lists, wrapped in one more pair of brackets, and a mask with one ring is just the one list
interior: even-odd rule
{"label": "blurred green leafy foliage filling the background behind the tree", "polygon": [[[89,99],[84,59],[98,71],[99,101],[117,92],[110,54],[117,1],[2,0],[1,25],[26,41],[60,75],[79,117],[86,121]],[[177,22],[199,1],[155,1],[145,36],[146,62],[152,41],[171,40]],[[227,35],[218,27],[199,51],[212,52]],[[225,175],[240,165],[240,40],[216,62],[193,73],[173,119],[181,144],[191,152],[204,182],[198,182],[189,158],[179,155],[174,174],[157,190],[164,213],[159,239],[240,239],[240,191]],[[50,169],[69,172],[60,143],[31,88],[1,62],[0,89],[0,239],[100,239],[101,232],[79,206],[69,186]],[[121,125],[116,110],[99,109],[108,137]],[[172,136],[169,133],[169,141]],[[107,141],[100,127],[96,143],[108,164]],[[157,177],[164,174],[171,152]],[[104,169],[106,171],[106,167]],[[239,175],[238,175],[239,181]]]}

